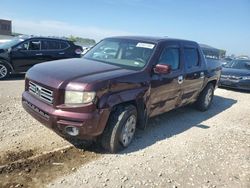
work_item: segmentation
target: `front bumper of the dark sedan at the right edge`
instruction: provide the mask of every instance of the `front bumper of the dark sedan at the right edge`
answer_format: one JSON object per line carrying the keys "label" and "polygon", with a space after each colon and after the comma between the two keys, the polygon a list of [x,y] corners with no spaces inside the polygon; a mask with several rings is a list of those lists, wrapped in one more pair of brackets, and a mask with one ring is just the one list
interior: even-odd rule
{"label": "front bumper of the dark sedan at the right edge", "polygon": [[221,78],[219,86],[250,91],[250,80],[231,80]]}

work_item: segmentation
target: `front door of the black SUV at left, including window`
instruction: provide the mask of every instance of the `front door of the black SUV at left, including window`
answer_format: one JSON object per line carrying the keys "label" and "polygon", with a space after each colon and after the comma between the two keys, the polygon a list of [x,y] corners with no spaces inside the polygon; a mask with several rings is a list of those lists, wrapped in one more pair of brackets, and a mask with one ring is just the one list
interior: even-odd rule
{"label": "front door of the black SUV at left, including window", "polygon": [[45,60],[41,51],[41,40],[24,41],[11,51],[11,60],[17,72],[25,72],[30,67]]}

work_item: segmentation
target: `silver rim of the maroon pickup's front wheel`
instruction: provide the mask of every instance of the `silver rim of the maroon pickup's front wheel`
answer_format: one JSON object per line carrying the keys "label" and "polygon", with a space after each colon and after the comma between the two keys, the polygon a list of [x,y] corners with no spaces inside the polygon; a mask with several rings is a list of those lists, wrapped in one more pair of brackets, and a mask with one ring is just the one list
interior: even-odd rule
{"label": "silver rim of the maroon pickup's front wheel", "polygon": [[136,117],[135,115],[131,115],[124,124],[120,136],[120,142],[124,147],[127,147],[133,140],[135,134],[135,128],[136,128]]}

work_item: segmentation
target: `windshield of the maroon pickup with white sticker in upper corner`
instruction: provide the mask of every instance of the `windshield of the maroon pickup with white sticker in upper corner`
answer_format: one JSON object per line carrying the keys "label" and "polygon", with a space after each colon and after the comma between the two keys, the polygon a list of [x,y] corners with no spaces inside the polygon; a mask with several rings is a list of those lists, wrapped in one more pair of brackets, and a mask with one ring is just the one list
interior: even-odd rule
{"label": "windshield of the maroon pickup with white sticker in upper corner", "polygon": [[142,69],[153,54],[155,44],[127,39],[105,39],[84,58],[128,69]]}

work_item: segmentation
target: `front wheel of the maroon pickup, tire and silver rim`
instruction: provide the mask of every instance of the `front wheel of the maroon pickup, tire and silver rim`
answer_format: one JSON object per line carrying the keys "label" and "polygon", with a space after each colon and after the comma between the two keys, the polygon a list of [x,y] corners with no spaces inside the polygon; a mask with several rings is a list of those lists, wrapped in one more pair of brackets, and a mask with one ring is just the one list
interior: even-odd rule
{"label": "front wheel of the maroon pickup, tire and silver rim", "polygon": [[116,153],[132,142],[137,123],[137,110],[133,105],[119,105],[111,112],[108,123],[101,136],[102,147]]}

